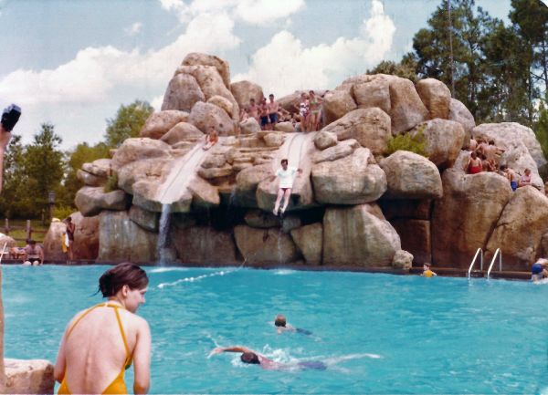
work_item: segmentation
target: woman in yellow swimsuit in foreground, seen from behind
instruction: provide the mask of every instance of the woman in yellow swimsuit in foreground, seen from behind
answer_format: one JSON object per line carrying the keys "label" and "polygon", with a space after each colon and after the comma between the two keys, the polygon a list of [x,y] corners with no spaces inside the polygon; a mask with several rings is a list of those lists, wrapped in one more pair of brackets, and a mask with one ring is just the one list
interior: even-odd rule
{"label": "woman in yellow swimsuit in foreground, seen from behind", "polygon": [[116,265],[99,279],[106,303],[80,311],[61,339],[55,364],[59,394],[128,393],[125,369],[133,362],[133,391],[147,393],[150,386],[151,332],[135,314],[144,303],[148,276],[141,267]]}

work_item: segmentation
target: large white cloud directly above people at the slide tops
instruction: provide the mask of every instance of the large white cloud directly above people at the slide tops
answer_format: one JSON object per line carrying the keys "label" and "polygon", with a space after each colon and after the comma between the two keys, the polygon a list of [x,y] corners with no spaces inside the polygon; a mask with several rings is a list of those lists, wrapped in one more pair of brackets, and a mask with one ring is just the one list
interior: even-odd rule
{"label": "large white cloud directly above people at the slide tops", "polygon": [[295,89],[332,88],[343,78],[363,73],[383,60],[392,47],[394,33],[395,25],[385,15],[383,5],[373,0],[360,36],[303,47],[299,38],[282,30],[253,55],[248,72],[234,79],[252,80],[278,96]]}

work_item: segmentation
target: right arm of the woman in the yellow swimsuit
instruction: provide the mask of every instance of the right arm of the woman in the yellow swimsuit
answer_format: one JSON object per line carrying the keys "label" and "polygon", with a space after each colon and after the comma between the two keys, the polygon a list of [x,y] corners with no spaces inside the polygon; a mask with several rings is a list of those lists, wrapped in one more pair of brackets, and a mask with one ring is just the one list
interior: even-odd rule
{"label": "right arm of the woman in the yellow swimsuit", "polygon": [[137,331],[137,343],[133,349],[133,392],[145,394],[151,386],[151,329],[143,318]]}

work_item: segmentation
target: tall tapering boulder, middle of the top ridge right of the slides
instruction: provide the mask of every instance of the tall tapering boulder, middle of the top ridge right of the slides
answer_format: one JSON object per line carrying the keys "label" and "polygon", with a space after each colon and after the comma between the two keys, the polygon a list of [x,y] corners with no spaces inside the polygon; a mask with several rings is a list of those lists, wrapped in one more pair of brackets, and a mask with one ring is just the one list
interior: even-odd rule
{"label": "tall tapering boulder, middle of the top ridge right of the slides", "polygon": [[392,133],[415,128],[425,121],[429,113],[422,100],[416,93],[415,85],[409,79],[391,77],[390,81],[390,118]]}

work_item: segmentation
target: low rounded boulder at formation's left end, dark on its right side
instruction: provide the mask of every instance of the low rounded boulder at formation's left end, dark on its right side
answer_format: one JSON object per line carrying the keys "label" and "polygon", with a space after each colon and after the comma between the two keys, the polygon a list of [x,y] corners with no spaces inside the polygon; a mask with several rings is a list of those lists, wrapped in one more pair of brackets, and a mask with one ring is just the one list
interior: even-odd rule
{"label": "low rounded boulder at formation's left end, dark on its right side", "polygon": [[76,192],[74,203],[82,215],[92,217],[102,210],[126,210],[129,197],[121,190],[104,192],[102,187],[85,186]]}

